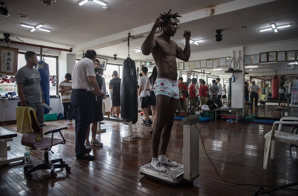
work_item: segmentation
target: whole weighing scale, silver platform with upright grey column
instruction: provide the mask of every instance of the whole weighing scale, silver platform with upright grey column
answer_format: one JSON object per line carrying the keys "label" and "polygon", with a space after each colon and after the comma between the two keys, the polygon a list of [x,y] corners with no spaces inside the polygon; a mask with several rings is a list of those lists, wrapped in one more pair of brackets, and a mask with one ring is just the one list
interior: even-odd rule
{"label": "whole weighing scale, silver platform with upright grey column", "polygon": [[174,186],[183,180],[192,182],[199,176],[199,116],[198,114],[187,116],[182,123],[184,165],[164,165],[167,171],[159,172],[148,163],[140,168],[140,174]]}

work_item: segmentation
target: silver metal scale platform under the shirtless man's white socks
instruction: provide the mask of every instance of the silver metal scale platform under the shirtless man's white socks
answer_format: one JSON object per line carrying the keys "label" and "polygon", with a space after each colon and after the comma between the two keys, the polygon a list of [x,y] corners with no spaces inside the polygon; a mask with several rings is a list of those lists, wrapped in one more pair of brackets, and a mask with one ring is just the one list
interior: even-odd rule
{"label": "silver metal scale platform under the shirtless man's white socks", "polygon": [[159,172],[151,166],[151,163],[143,165],[140,169],[140,174],[147,176],[149,178],[154,178],[156,180],[166,182],[171,185],[178,185],[183,182],[183,165],[178,164],[178,166],[163,165],[167,169],[165,172]]}

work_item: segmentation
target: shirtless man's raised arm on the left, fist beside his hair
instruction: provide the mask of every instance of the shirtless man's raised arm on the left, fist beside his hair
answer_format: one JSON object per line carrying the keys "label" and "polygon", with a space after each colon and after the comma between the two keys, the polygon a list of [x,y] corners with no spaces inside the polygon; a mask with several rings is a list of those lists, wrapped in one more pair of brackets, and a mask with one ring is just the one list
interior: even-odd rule
{"label": "shirtless man's raised arm on the left, fist beside his hair", "polygon": [[152,52],[152,49],[156,46],[156,42],[154,41],[155,31],[157,27],[159,27],[160,24],[162,23],[163,23],[162,19],[156,18],[149,35],[147,36],[144,43],[142,44],[141,50],[143,55],[150,55],[150,53]]}

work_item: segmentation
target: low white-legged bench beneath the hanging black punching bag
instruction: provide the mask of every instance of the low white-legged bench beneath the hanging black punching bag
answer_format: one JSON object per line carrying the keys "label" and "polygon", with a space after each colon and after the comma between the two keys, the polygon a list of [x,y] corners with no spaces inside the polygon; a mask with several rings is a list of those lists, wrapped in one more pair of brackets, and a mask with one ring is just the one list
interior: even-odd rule
{"label": "low white-legged bench beneath the hanging black punching bag", "polygon": [[[145,138],[145,135],[132,134],[132,121],[133,121],[132,119],[104,116],[104,120],[111,121],[111,122],[124,123],[124,124],[128,125],[128,136],[122,137],[122,140],[124,140],[124,141],[133,141],[133,138],[135,138],[135,137]],[[98,124],[97,124],[97,129],[98,130],[96,133],[106,131],[106,129],[100,128],[100,122],[98,122]]]}

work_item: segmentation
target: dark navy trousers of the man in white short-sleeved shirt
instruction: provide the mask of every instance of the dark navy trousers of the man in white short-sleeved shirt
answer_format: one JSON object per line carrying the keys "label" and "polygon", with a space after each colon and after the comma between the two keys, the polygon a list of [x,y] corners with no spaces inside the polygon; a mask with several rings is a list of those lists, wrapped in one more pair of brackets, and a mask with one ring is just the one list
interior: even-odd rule
{"label": "dark navy trousers of the man in white short-sleeved shirt", "polygon": [[76,157],[85,155],[85,139],[92,111],[91,92],[84,89],[73,89],[71,105],[76,119]]}

